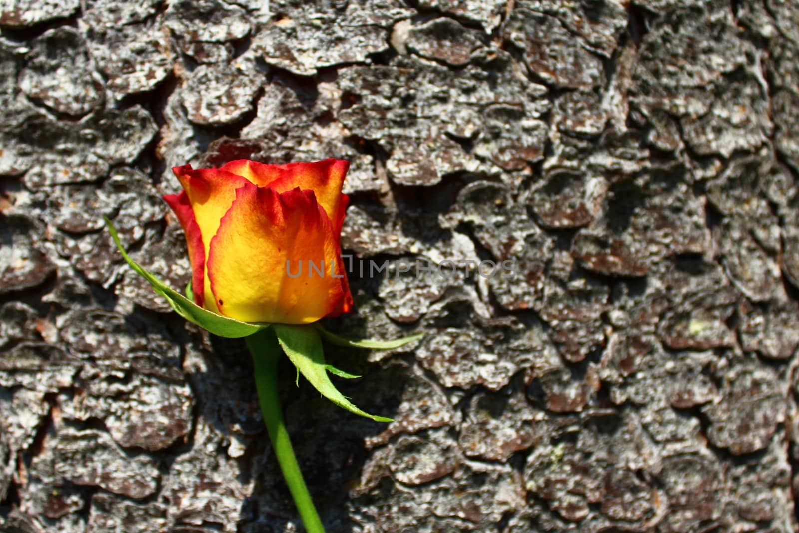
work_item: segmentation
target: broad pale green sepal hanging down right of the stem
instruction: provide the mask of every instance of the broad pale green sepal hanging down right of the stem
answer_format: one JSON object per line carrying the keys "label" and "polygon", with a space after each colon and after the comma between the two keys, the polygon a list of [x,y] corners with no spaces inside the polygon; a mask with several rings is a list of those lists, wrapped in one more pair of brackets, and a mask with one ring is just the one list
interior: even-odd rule
{"label": "broad pale green sepal hanging down right of the stem", "polygon": [[322,340],[316,328],[311,324],[289,325],[272,324],[280,346],[286,352],[288,359],[300,370],[305,379],[308,380],[322,396],[332,401],[334,404],[354,412],[356,415],[366,416],[378,422],[391,422],[392,419],[384,416],[370,415],[368,412],[361,411],[350,402],[346,396],[341,394],[335,385],[332,384],[328,376],[328,364],[324,362],[324,352],[322,352]]}

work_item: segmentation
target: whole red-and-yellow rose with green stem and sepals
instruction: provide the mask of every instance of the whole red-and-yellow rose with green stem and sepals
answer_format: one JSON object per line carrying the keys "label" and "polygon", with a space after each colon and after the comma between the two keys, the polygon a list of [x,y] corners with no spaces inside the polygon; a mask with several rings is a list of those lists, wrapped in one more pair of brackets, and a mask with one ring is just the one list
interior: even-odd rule
{"label": "whole red-and-yellow rose with green stem and sepals", "polygon": [[[352,308],[340,235],[348,198],[341,193],[347,161],[263,165],[233,161],[220,169],[177,166],[183,192],[165,196],[185,230],[193,295],[183,296],[129,256],[105,218],[123,259],[186,320],[216,335],[246,337],[261,413],[272,450],[308,533],[324,526],[308,494],[288,439],[277,376],[280,352],[313,387],[356,415],[391,422],[357,408],[328,373],[358,377],[324,360],[322,339],[348,348],[393,349],[421,335],[396,340],[351,340],[315,322]],[[292,275],[292,262],[308,276]],[[310,265],[323,265],[312,275]],[[324,265],[330,268],[329,272]],[[193,296],[193,300],[191,296]]]}

